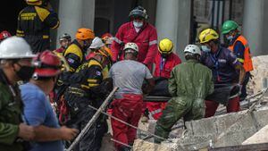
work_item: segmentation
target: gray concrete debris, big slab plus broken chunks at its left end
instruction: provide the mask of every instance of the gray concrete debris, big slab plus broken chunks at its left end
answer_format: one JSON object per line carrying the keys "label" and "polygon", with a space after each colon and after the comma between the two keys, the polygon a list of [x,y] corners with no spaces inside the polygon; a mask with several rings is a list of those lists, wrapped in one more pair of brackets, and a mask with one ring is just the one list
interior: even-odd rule
{"label": "gray concrete debris, big slab plus broken chunks at its left end", "polygon": [[[246,112],[228,113],[186,122],[187,130],[183,135],[180,138],[172,138],[169,141],[162,142],[161,147],[168,147],[171,150],[197,150],[205,147],[241,145],[256,131],[261,130],[268,124],[267,108],[253,113],[246,114]],[[243,117],[241,118],[241,116]],[[223,134],[222,137],[218,138],[221,134]],[[148,146],[155,147],[154,144],[147,141],[138,140],[135,143],[136,150],[147,150]]]}

